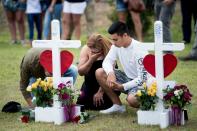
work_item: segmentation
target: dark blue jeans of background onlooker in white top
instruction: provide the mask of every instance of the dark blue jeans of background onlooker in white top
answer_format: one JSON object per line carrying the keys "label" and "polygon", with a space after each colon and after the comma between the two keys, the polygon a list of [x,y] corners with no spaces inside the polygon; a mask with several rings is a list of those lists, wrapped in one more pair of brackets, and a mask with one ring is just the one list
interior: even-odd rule
{"label": "dark blue jeans of background onlooker in white top", "polygon": [[41,14],[27,14],[28,26],[29,26],[29,40],[33,40],[34,38],[34,22],[36,24],[37,29],[37,39],[40,40],[42,38],[41,32]]}

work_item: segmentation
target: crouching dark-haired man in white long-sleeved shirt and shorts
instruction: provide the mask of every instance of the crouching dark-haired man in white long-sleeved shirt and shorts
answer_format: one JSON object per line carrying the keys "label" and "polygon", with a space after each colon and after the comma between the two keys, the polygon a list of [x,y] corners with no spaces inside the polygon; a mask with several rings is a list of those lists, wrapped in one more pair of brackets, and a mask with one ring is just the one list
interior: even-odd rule
{"label": "crouching dark-haired man in white long-sleeved shirt and shorts", "polygon": [[[114,93],[115,90],[127,94],[127,102],[131,107],[139,107],[135,94],[138,87],[147,80],[147,72],[143,66],[143,58],[147,51],[136,48],[140,42],[129,35],[125,23],[115,22],[108,29],[113,45],[103,61],[102,68],[97,69],[96,78],[104,92],[113,102],[113,106],[101,110],[100,113],[110,114],[113,112],[125,112],[120,98]],[[114,70],[114,63],[119,60],[123,71]]]}

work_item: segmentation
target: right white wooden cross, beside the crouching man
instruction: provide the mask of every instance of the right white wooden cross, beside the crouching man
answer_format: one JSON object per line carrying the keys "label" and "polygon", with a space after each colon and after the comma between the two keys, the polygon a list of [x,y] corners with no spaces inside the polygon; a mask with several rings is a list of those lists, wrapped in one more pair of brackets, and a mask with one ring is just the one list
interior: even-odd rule
{"label": "right white wooden cross, beside the crouching man", "polygon": [[[163,51],[181,51],[184,49],[184,43],[163,43],[163,27],[161,21],[156,21],[154,23],[154,39],[155,39],[155,43],[141,43],[139,44],[139,48],[143,50],[155,51],[155,70],[156,70],[155,72],[156,72],[156,83],[158,89],[157,96],[160,98],[159,102],[157,103],[156,110],[162,113],[164,111],[164,106],[162,102],[163,99],[162,89],[164,87],[164,82],[165,82],[164,68],[163,68]],[[147,119],[149,118],[147,117]]]}

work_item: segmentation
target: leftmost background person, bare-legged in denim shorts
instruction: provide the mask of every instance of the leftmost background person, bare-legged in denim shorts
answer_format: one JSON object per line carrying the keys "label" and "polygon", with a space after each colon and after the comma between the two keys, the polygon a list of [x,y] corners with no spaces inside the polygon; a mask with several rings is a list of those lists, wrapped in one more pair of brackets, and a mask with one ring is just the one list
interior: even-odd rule
{"label": "leftmost background person, bare-legged in denim shorts", "polygon": [[[5,0],[2,0],[3,5]],[[8,27],[11,34],[11,44],[17,44],[18,42],[21,44],[25,44],[25,10],[26,3],[25,0],[17,1],[17,8],[11,10],[4,6],[6,18],[8,21]],[[17,40],[17,26],[20,36],[20,41]]]}

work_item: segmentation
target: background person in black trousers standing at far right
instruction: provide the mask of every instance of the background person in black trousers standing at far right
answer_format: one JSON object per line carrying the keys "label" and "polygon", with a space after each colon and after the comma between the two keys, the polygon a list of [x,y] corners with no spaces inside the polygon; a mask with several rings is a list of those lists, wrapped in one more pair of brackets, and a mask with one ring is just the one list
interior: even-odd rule
{"label": "background person in black trousers standing at far right", "polygon": [[190,43],[192,36],[192,17],[194,25],[197,19],[197,0],[181,0],[183,42]]}

